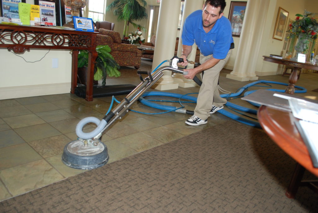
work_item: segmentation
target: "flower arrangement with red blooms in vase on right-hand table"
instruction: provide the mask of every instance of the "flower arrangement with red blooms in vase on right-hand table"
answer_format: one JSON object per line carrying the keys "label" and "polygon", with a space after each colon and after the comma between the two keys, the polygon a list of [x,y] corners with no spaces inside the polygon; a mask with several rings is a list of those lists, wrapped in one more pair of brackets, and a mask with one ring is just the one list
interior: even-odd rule
{"label": "flower arrangement with red blooms in vase on right-hand table", "polygon": [[308,39],[317,39],[318,23],[315,18],[311,17],[312,14],[306,10],[304,15],[296,14],[295,21],[289,25],[291,37],[306,36]]}

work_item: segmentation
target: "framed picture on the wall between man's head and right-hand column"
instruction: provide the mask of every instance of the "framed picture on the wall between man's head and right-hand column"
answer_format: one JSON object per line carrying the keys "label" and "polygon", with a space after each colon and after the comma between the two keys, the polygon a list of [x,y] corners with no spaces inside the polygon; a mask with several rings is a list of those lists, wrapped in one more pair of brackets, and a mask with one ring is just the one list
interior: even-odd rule
{"label": "framed picture on the wall between man's head and right-hand column", "polygon": [[229,20],[232,26],[232,36],[239,37],[243,26],[243,20],[247,2],[231,1]]}

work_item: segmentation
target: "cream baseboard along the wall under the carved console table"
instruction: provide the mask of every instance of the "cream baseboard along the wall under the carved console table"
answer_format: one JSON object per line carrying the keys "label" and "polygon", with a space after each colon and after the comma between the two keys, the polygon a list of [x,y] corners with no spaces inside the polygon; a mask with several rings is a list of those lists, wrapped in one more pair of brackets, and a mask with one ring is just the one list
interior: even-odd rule
{"label": "cream baseboard along the wall under the carved console table", "polygon": [[0,100],[69,93],[71,83],[0,87]]}

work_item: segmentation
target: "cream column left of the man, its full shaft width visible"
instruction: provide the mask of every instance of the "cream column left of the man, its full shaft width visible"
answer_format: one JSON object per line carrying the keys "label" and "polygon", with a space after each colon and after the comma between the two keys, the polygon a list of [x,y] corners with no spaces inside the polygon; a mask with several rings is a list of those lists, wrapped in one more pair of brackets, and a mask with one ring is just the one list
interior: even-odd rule
{"label": "cream column left of the man, its full shaft width visible", "polygon": [[[162,61],[171,59],[174,56],[180,4],[181,0],[161,0],[160,2],[156,48],[154,51],[154,59],[152,61],[152,70],[154,70]],[[162,64],[162,66],[169,66],[169,63],[166,62]],[[174,83],[171,77],[171,71],[164,71],[164,75],[152,86],[152,88],[158,90],[177,89],[178,84]]]}

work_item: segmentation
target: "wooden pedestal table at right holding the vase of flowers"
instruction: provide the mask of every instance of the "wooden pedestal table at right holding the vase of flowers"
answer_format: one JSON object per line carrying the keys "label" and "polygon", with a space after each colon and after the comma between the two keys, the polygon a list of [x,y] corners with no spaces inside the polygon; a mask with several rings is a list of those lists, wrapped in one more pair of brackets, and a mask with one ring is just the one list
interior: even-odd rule
{"label": "wooden pedestal table at right holding the vase of flowers", "polygon": [[293,67],[292,73],[290,74],[289,80],[288,80],[289,85],[287,86],[285,90],[285,93],[288,93],[288,94],[294,94],[295,92],[295,84],[298,80],[297,71],[300,72],[301,68],[318,70],[318,64],[301,63],[301,62],[292,61],[288,59],[277,59],[277,58],[273,58],[273,57],[269,57],[265,55],[263,55],[263,57],[264,57],[264,61]]}

